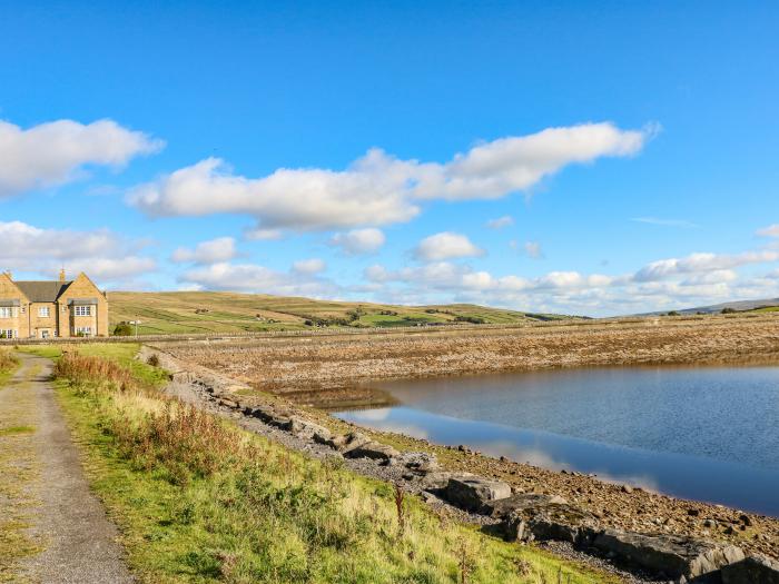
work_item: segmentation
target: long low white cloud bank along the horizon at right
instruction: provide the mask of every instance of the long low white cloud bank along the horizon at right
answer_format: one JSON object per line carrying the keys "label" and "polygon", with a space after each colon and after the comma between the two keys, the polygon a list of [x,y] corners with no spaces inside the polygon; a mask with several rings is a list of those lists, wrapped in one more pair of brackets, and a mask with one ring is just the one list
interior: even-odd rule
{"label": "long low white cloud bank along the horizon at right", "polygon": [[433,261],[397,270],[375,265],[364,276],[385,301],[463,301],[603,316],[773,297],[778,293],[776,270],[760,277],[742,277],[737,268],[777,261],[779,254],[771,251],[693,254],[658,260],[629,274],[556,270],[533,278],[497,276],[469,265]]}

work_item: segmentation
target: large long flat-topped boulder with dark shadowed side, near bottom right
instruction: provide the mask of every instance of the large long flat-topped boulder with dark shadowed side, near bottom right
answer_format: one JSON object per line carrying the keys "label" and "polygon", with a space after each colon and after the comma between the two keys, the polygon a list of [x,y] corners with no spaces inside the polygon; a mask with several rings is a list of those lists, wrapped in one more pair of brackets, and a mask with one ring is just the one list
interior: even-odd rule
{"label": "large long flat-topped boulder with dark shadowed side, near bottom right", "polygon": [[708,540],[673,535],[642,535],[605,529],[593,541],[594,547],[613,554],[620,562],[638,565],[655,574],[688,580],[716,572],[743,560],[740,547]]}

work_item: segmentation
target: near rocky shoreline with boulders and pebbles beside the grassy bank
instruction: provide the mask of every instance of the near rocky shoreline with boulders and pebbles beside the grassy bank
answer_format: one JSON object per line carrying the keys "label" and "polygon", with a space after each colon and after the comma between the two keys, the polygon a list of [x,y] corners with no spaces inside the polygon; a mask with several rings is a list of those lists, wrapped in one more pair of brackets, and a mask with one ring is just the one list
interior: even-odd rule
{"label": "near rocky shoreline with boulders and pebbles beside the grassy bank", "polygon": [[[150,352],[145,348],[144,357]],[[727,584],[779,575],[768,557],[776,557],[779,541],[779,522],[770,517],[496,461],[464,446],[357,430],[277,398],[240,396],[240,384],[155,353],[174,372],[170,390],[179,397],[209,404],[253,432],[277,434],[275,439],[296,449],[339,457],[509,540],[546,542],[611,571],[629,568],[621,575],[632,582],[716,577]],[[748,580],[756,573],[763,580]]]}

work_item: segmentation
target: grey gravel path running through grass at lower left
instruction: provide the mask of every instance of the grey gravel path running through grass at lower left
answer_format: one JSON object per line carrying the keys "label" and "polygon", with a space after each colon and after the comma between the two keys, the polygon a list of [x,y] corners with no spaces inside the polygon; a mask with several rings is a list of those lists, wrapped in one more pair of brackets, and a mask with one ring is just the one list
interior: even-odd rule
{"label": "grey gravel path running through grass at lower left", "polygon": [[55,398],[51,362],[20,354],[19,375],[29,383],[38,409],[34,434],[40,463],[32,532],[45,550],[23,568],[36,582],[125,584],[134,582],[117,542],[118,531],[89,491],[79,452]]}

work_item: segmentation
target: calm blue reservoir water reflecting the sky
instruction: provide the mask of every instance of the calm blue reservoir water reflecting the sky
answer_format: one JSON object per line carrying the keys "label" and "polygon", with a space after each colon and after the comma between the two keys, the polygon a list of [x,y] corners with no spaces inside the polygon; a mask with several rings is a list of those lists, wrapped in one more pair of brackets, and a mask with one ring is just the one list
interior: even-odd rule
{"label": "calm blue reservoir water reflecting the sky", "polygon": [[378,383],[336,415],[779,516],[779,367],[625,367]]}

